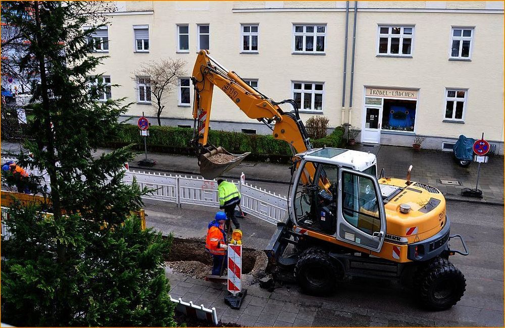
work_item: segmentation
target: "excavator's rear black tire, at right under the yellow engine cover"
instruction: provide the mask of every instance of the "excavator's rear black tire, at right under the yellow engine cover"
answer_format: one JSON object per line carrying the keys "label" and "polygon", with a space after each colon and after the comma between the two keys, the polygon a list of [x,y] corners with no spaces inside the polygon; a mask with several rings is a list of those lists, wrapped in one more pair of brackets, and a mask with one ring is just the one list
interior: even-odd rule
{"label": "excavator's rear black tire, at right under the yellow engine cover", "polygon": [[424,270],[419,286],[421,302],[431,310],[445,310],[458,303],[466,290],[463,273],[446,259]]}

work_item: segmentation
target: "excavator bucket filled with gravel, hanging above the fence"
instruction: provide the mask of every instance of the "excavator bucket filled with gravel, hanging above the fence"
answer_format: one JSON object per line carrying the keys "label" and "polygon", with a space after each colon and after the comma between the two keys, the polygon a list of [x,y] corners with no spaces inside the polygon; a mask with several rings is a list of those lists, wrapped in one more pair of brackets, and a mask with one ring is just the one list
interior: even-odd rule
{"label": "excavator bucket filled with gravel, hanging above the fence", "polygon": [[239,165],[248,154],[250,152],[235,155],[229,153],[223,147],[217,147],[200,156],[200,174],[207,180],[215,179],[224,172]]}

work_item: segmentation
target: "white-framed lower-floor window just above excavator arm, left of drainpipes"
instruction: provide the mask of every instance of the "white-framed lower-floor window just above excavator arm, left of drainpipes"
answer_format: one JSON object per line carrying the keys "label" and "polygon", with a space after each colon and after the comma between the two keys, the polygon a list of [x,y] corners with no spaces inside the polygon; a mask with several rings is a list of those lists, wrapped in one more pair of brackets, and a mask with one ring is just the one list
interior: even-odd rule
{"label": "white-framed lower-floor window just above excavator arm, left of drainpipes", "polygon": [[291,91],[300,111],[323,112],[324,82],[291,81]]}

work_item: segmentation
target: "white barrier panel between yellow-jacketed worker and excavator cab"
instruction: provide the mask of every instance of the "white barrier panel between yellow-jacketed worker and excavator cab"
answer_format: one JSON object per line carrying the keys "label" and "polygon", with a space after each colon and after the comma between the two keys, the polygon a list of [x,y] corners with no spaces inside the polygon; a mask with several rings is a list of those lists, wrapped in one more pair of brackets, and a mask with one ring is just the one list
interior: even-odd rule
{"label": "white barrier panel between yellow-jacketed worker and excavator cab", "polygon": [[241,185],[240,206],[252,215],[276,225],[286,214],[287,199],[248,184]]}

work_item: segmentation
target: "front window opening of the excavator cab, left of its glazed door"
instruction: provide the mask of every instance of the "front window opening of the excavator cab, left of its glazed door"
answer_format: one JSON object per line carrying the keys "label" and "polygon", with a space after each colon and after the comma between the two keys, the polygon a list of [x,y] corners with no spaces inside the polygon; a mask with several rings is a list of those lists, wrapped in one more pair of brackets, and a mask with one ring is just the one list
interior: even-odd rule
{"label": "front window opening of the excavator cab, left of its glazed door", "polygon": [[[338,167],[326,163],[312,163],[315,179],[308,185],[298,184],[294,210],[300,227],[334,235],[336,230],[336,192]],[[307,163],[306,163],[307,165]]]}

